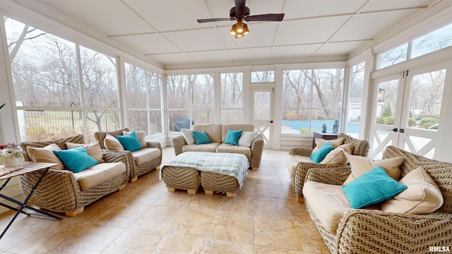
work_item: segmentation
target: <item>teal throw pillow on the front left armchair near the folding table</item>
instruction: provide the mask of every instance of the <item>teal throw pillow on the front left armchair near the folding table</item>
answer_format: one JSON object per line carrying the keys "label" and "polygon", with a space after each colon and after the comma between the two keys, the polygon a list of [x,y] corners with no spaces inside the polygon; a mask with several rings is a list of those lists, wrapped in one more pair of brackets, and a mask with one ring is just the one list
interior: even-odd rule
{"label": "teal throw pillow on the front left armchair near the folding table", "polygon": [[76,147],[69,150],[54,150],[58,159],[63,162],[64,166],[74,173],[81,172],[89,167],[99,164],[97,159],[90,157],[85,147]]}

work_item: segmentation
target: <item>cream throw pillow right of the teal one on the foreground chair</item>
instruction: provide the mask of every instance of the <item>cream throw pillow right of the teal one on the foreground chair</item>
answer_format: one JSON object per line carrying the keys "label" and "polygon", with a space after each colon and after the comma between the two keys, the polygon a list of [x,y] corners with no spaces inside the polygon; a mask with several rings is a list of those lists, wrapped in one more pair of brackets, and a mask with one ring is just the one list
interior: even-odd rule
{"label": "cream throw pillow right of the teal one on the foreground chair", "polygon": [[408,214],[427,214],[443,205],[444,198],[432,177],[419,167],[399,181],[408,188],[381,203],[381,210]]}

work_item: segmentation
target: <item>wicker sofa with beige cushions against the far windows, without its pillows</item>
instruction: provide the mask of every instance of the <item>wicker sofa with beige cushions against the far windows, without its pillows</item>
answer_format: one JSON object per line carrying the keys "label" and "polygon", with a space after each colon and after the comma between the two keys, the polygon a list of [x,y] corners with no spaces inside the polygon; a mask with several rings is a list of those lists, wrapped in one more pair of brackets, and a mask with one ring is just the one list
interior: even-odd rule
{"label": "wicker sofa with beige cushions against the far windows, without its pillows", "polygon": [[258,170],[261,164],[263,138],[258,134],[251,142],[251,147],[242,145],[228,145],[225,144],[227,131],[254,131],[254,126],[251,124],[195,124],[192,126],[194,131],[206,131],[208,137],[212,141],[209,144],[203,145],[187,145],[183,135],[172,139],[174,145],[174,154],[180,155],[182,152],[233,152],[246,155],[249,161],[249,167],[253,170]]}

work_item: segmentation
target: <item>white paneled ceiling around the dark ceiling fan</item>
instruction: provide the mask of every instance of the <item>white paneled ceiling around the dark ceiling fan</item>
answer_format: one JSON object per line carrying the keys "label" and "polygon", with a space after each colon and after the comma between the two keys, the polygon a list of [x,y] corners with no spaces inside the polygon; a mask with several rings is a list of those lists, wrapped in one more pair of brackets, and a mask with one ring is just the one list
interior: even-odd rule
{"label": "white paneled ceiling around the dark ceiling fan", "polygon": [[[13,0],[57,12],[163,68],[281,63],[347,56],[441,0],[248,0],[251,15],[285,13],[281,22],[249,22],[230,35],[234,0]],[[44,6],[44,8],[42,8]],[[51,16],[51,15],[49,15]]]}

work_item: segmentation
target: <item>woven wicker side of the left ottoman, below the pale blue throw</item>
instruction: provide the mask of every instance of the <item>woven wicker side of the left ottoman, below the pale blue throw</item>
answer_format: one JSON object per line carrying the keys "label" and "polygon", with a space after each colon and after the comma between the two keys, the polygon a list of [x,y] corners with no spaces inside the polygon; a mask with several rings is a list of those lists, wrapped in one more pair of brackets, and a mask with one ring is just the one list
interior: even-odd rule
{"label": "woven wicker side of the left ottoman, below the pale blue throw", "polygon": [[197,190],[199,188],[199,171],[192,167],[164,166],[162,179],[168,188]]}

